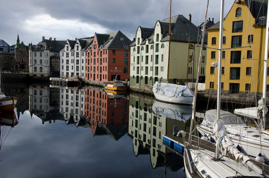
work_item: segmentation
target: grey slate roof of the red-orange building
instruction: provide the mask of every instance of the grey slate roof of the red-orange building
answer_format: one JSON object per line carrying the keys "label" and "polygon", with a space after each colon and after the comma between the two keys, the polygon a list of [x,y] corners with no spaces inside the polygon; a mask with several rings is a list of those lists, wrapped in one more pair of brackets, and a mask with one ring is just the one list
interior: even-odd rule
{"label": "grey slate roof of the red-orange building", "polygon": [[127,46],[130,46],[132,44],[132,41],[125,36],[120,30],[113,31],[111,33],[105,33],[105,34],[99,34],[96,33],[98,46],[102,45],[103,49],[124,49],[124,46],[120,38],[122,37],[124,39],[124,42]]}

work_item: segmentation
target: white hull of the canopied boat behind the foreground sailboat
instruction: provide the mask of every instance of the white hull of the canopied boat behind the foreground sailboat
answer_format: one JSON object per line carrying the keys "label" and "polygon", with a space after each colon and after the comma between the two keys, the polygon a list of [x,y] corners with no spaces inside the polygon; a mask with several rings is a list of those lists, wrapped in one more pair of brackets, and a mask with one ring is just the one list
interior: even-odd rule
{"label": "white hull of the canopied boat behind the foreground sailboat", "polygon": [[[263,134],[259,133],[259,130],[255,127],[250,127],[245,124],[224,126],[235,147],[239,145],[243,153],[248,154],[252,158],[256,158],[256,156],[258,156],[260,153],[261,143],[261,154],[263,155],[265,161],[269,161],[269,137],[263,136]],[[216,140],[216,137],[212,136],[212,127],[201,124],[197,126],[197,130],[202,135],[207,135],[208,138],[212,137],[214,140]],[[261,142],[259,137],[260,134]]]}

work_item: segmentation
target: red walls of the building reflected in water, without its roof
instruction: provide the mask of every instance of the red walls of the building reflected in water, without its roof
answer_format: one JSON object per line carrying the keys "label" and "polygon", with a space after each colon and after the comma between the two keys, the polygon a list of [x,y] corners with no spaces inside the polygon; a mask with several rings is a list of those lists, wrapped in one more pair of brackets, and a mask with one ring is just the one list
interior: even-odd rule
{"label": "red walls of the building reflected in water, without its roof", "polygon": [[103,91],[85,88],[85,116],[91,123],[93,135],[101,124],[126,128],[129,124],[128,106],[126,98],[113,98]]}

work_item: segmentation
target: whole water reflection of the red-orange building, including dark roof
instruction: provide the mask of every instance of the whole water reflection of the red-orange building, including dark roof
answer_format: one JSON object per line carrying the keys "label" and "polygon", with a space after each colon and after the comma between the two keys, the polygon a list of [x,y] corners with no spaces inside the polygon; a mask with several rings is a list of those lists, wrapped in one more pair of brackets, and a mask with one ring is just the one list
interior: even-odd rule
{"label": "whole water reflection of the red-orange building, including dark roof", "polygon": [[125,95],[107,94],[102,88],[85,88],[85,118],[93,136],[107,135],[119,140],[128,133],[129,100]]}

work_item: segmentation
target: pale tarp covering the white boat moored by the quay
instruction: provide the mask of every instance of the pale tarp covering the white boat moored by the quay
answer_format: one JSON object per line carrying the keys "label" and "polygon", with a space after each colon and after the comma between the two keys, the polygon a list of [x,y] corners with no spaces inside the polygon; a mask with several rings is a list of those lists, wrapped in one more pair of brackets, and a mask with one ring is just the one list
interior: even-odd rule
{"label": "pale tarp covering the white boat moored by the quay", "polygon": [[159,95],[165,95],[166,97],[181,97],[182,93],[184,97],[194,96],[194,92],[187,85],[183,86],[158,81],[153,85],[152,91],[157,92]]}

